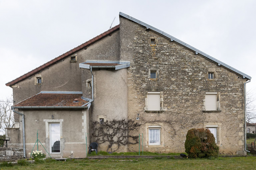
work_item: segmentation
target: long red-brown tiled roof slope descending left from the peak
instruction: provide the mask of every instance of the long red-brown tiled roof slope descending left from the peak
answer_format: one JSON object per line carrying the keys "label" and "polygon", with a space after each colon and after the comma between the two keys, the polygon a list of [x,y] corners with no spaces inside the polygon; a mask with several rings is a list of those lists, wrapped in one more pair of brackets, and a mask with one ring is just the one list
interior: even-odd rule
{"label": "long red-brown tiled roof slope descending left from the peak", "polygon": [[37,67],[36,69],[34,69],[34,70],[32,70],[32,71],[30,71],[30,72],[20,76],[19,78],[16,78],[15,80],[10,81],[9,83],[6,83],[5,85],[6,86],[12,86],[12,85],[18,83],[19,81],[22,81],[22,80],[30,77],[31,75],[34,75],[37,72],[40,72],[41,70],[46,69],[47,67],[51,66],[52,64],[55,64],[58,61],[60,61],[60,60],[62,60],[64,58],[70,56],[71,54],[73,54],[73,53],[75,53],[75,52],[77,52],[77,51],[87,47],[88,45],[91,45],[92,43],[94,43],[94,42],[104,38],[105,36],[110,35],[111,33],[115,32],[116,30],[119,30],[119,25],[117,25],[116,27],[113,27],[110,30],[107,30],[106,32],[100,34],[99,36],[96,36],[93,39],[91,39],[91,40],[89,40],[89,41],[87,41],[87,42],[77,46],[76,48],[73,48],[72,50],[67,51],[66,53],[60,55],[59,57],[56,57],[55,59],[53,59],[53,60],[43,64],[42,66]]}

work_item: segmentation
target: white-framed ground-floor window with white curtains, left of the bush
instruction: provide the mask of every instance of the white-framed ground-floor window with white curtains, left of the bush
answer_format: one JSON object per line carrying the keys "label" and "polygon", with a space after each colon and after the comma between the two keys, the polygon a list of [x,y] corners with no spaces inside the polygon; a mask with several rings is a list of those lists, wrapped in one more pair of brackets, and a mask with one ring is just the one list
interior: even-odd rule
{"label": "white-framed ground-floor window with white curtains, left of the bush", "polygon": [[161,145],[161,126],[149,126],[149,145]]}

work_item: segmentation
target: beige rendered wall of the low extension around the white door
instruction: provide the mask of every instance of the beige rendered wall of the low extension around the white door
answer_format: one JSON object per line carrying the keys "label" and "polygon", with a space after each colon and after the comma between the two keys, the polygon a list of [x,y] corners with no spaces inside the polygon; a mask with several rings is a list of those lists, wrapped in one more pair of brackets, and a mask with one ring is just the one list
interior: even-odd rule
{"label": "beige rendered wall of the low extension around the white door", "polygon": [[[49,123],[54,121],[61,122],[61,153],[51,154],[52,157],[58,158],[85,158],[86,157],[86,136],[89,146],[89,112],[88,110],[20,110],[24,113],[25,118],[25,143],[26,143],[26,157],[31,152],[36,140],[37,130],[38,138],[47,151],[49,148]],[[54,119],[52,119],[52,116]],[[20,116],[21,117],[21,116]],[[56,123],[56,122],[55,122]],[[47,130],[48,128],[48,130]],[[9,133],[14,135],[13,129],[8,129]],[[15,130],[16,131],[16,130]],[[10,147],[23,147],[22,141],[22,122],[20,122],[21,141],[11,140],[8,144]],[[12,138],[12,137],[11,137]],[[15,143],[18,142],[18,143]],[[40,144],[39,144],[40,145]],[[36,146],[37,147],[37,146]],[[34,150],[36,150],[35,148]],[[46,151],[40,145],[39,150]],[[47,155],[48,156],[48,155]]]}

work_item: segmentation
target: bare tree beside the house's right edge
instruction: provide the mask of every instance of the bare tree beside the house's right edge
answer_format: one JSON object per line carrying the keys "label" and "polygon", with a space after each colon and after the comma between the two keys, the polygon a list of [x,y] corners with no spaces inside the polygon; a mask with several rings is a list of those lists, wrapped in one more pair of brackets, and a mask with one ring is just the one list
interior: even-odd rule
{"label": "bare tree beside the house's right edge", "polygon": [[253,92],[246,92],[246,116],[247,122],[256,122],[256,98]]}

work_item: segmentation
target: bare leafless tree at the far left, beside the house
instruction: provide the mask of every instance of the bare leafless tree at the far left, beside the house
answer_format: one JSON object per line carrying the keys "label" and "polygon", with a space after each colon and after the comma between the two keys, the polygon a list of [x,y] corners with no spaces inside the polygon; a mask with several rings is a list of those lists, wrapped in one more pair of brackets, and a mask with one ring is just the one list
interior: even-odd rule
{"label": "bare leafless tree at the far left, beside the house", "polygon": [[0,134],[5,133],[5,128],[13,128],[14,126],[12,104],[13,102],[10,98],[0,101]]}

